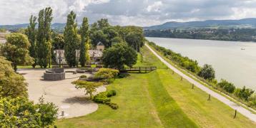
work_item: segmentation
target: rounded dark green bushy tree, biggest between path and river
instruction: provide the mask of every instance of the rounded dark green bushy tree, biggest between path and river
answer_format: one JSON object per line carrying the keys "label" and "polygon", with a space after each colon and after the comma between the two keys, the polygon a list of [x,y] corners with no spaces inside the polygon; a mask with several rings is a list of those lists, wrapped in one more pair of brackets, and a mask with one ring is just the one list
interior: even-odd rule
{"label": "rounded dark green bushy tree, biggest between path and river", "polygon": [[205,64],[200,70],[198,75],[205,80],[214,80],[215,79],[215,70],[212,68],[212,65]]}

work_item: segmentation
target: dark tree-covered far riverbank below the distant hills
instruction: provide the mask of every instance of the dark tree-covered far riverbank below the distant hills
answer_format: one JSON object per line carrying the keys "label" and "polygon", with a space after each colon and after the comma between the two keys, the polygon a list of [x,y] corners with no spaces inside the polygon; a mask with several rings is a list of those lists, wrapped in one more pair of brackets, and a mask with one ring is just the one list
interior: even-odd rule
{"label": "dark tree-covered far riverbank below the distant hills", "polygon": [[207,39],[217,41],[256,41],[255,28],[231,28],[231,29],[166,29],[145,30],[144,36],[163,38],[190,38]]}

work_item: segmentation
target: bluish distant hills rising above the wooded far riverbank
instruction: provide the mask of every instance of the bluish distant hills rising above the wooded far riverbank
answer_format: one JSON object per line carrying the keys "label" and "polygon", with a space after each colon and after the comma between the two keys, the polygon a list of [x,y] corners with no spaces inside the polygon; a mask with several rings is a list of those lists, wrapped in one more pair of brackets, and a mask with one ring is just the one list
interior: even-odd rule
{"label": "bluish distant hills rising above the wooded far riverbank", "polygon": [[167,22],[157,26],[144,27],[146,30],[160,30],[169,28],[256,28],[256,18],[243,18],[240,20],[207,20],[189,22]]}

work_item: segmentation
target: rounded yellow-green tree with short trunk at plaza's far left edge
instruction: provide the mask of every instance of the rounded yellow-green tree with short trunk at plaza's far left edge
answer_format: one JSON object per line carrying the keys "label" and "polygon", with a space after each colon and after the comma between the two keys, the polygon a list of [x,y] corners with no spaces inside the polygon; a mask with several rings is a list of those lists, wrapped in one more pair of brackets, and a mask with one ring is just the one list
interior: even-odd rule
{"label": "rounded yellow-green tree with short trunk at plaza's far left edge", "polygon": [[11,33],[6,38],[6,43],[1,46],[1,53],[7,60],[12,62],[14,70],[17,70],[17,65],[25,65],[33,63],[29,56],[29,40],[21,33]]}

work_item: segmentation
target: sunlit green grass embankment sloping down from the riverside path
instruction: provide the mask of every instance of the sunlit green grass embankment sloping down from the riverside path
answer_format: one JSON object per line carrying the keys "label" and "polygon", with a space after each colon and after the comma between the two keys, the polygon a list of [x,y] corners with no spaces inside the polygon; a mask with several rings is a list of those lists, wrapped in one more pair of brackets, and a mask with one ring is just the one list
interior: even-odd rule
{"label": "sunlit green grass embankment sloping down from the riverside path", "polygon": [[[140,56],[140,55],[139,55]],[[212,98],[172,75],[152,53],[142,49],[143,59],[137,66],[156,65],[151,73],[131,73],[117,79],[107,90],[117,90],[112,102],[119,105],[112,110],[99,105],[99,110],[84,117],[59,119],[58,127],[252,127],[249,119],[237,114],[222,102]],[[141,62],[140,60],[143,60]]]}

